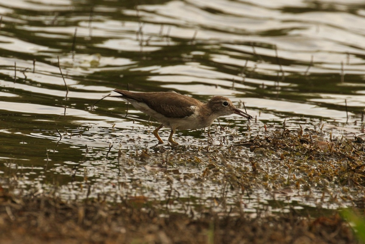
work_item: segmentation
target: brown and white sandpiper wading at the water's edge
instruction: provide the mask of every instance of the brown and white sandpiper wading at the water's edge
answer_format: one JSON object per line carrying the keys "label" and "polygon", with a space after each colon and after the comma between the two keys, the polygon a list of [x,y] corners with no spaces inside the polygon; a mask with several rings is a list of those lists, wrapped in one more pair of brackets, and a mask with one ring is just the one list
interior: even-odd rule
{"label": "brown and white sandpiper wading at the water's edge", "polygon": [[207,103],[202,103],[195,98],[168,92],[130,92],[115,89],[121,95],[111,96],[130,102],[135,108],[150,115],[161,123],[153,134],[159,144],[164,143],[158,135],[162,127],[171,128],[169,142],[173,145],[178,143],[172,135],[177,129],[192,130],[210,126],[213,121],[224,115],[238,114],[247,119],[252,116],[236,108],[231,100],[224,96],[214,96]]}

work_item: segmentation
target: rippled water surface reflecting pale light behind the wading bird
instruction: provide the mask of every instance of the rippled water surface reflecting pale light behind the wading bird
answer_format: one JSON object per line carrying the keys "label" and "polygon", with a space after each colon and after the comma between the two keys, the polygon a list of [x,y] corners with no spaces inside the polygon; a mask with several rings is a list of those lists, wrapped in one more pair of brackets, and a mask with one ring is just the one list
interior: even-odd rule
{"label": "rippled water surface reflecting pale light behind the wading bird", "polygon": [[[212,139],[208,129],[178,131],[191,152],[284,119],[363,135],[363,1],[12,0],[1,1],[0,16],[0,170],[15,172],[24,191],[56,184],[65,198],[124,192],[162,201],[171,183],[159,179],[170,175],[184,189],[180,199],[215,197],[219,185],[197,184],[204,169],[193,159],[155,167],[178,153],[155,148],[158,124],[147,115],[115,98],[95,104],[115,88],[173,89],[202,101],[224,95],[256,118],[250,133],[234,115],[219,119],[230,130],[209,129]],[[255,196],[251,205],[241,196],[247,211],[271,198]]]}

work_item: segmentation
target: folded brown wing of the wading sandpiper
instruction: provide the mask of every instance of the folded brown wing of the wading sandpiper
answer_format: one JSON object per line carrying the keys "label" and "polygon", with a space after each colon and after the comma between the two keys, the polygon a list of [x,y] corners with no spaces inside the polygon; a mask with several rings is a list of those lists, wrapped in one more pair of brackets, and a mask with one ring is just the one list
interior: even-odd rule
{"label": "folded brown wing of the wading sandpiper", "polygon": [[114,90],[122,96],[115,96],[126,100],[146,103],[151,109],[167,118],[185,118],[194,113],[194,106],[200,101],[178,94],[176,92],[130,92]]}

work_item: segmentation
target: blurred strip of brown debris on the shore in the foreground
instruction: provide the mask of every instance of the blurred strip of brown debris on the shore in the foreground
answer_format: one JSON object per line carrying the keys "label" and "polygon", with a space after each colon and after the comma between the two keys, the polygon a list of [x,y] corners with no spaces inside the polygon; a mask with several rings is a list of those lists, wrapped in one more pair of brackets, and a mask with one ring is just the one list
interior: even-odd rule
{"label": "blurred strip of brown debris on the shore in the foreground", "polygon": [[170,213],[128,201],[65,202],[55,197],[15,197],[2,190],[0,240],[15,243],[357,243],[338,215],[316,219],[292,213],[250,218]]}

